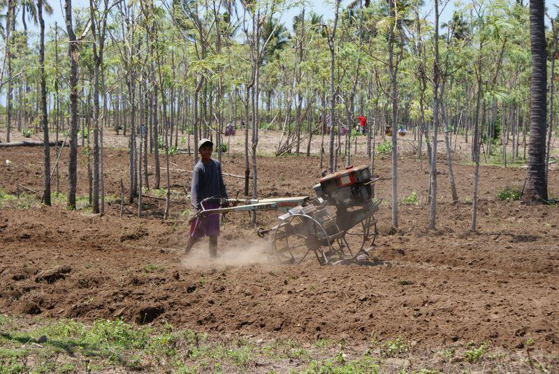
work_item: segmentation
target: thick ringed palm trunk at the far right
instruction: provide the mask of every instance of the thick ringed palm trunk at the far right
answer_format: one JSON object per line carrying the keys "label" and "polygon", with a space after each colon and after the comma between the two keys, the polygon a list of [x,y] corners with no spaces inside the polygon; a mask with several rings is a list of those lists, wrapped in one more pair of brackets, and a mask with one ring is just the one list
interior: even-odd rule
{"label": "thick ringed palm trunk at the far right", "polygon": [[530,204],[547,201],[547,51],[544,15],[545,0],[531,0],[530,51],[532,52],[532,80],[530,82],[530,146],[528,148],[528,172],[523,188],[523,200]]}

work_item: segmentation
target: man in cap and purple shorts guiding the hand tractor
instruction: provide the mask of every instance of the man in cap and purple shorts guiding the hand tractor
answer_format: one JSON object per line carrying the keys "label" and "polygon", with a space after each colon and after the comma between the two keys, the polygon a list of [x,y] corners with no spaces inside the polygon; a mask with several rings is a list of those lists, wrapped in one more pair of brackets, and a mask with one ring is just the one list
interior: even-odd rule
{"label": "man in cap and purple shorts guiding the hand tractor", "polygon": [[[209,139],[198,142],[200,160],[194,167],[190,202],[193,210],[219,208],[219,200],[227,199],[227,190],[223,182],[222,165],[212,158],[214,144]],[[203,202],[208,197],[213,200]],[[202,207],[203,204],[203,207]],[[190,237],[184,252],[188,255],[192,246],[202,237],[210,237],[210,256],[217,256],[217,237],[219,235],[219,214],[198,216],[190,225]]]}

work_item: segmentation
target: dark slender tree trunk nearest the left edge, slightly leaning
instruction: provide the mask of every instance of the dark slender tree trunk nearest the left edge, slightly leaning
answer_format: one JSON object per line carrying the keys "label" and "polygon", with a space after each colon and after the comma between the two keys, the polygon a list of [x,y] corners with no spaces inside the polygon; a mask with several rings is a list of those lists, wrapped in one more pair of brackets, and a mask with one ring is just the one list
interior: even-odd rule
{"label": "dark slender tree trunk nearest the left edge, slightly leaning", "polygon": [[41,66],[41,124],[45,143],[45,204],[50,205],[50,149],[48,147],[47,82],[45,80],[45,20],[43,20],[43,0],[38,0],[37,12],[41,24],[39,40],[39,65]]}

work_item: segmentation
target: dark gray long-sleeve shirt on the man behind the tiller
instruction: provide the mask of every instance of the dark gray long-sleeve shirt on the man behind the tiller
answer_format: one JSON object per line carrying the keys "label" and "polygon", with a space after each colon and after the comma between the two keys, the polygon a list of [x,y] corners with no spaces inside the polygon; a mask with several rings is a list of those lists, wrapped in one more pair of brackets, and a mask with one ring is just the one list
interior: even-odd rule
{"label": "dark gray long-sleeve shirt on the man behind the tiller", "polygon": [[208,164],[199,160],[192,174],[190,203],[194,209],[199,209],[202,200],[214,196],[228,198],[223,182],[222,165],[213,158]]}

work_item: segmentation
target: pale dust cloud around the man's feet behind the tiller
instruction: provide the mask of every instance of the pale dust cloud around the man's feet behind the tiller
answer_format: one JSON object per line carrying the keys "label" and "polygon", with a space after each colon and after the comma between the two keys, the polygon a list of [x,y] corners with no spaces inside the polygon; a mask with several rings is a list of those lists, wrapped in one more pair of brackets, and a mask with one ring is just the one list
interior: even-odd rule
{"label": "pale dust cloud around the man's feet behind the tiller", "polygon": [[189,255],[183,255],[181,263],[187,268],[242,267],[275,262],[269,241],[228,241],[218,244],[217,258],[210,257],[208,239],[198,241]]}

